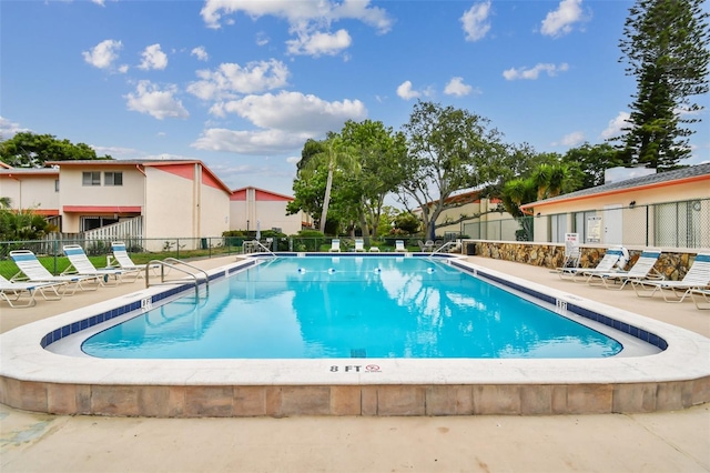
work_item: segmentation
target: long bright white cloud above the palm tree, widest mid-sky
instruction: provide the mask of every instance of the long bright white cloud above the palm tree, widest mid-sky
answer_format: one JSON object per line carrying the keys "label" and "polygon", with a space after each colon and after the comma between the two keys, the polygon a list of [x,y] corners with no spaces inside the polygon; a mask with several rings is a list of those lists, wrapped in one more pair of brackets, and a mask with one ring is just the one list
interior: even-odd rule
{"label": "long bright white cloud above the palm tree, widest mid-sky", "polygon": [[301,92],[246,95],[217,105],[224,113],[236,113],[263,129],[323,134],[339,130],[347,120],[361,121],[367,109],[359,100],[327,102]]}

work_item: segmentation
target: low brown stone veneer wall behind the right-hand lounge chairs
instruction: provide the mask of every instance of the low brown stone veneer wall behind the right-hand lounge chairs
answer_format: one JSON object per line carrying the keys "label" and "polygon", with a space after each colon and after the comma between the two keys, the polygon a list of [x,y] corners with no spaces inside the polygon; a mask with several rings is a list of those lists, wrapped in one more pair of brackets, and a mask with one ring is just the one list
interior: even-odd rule
{"label": "low brown stone veneer wall behind the right-hand lounge chairs", "polygon": [[[565,245],[555,243],[506,242],[465,240],[463,246],[468,243],[476,245],[476,256],[494,258],[496,260],[515,261],[517,263],[532,264],[555,269],[565,261]],[[606,248],[581,246],[580,266],[594,268],[604,258]],[[636,263],[642,250],[629,250],[629,264],[627,270]],[[663,251],[656,263],[667,280],[677,281],[683,279],[694,253],[680,253]]]}

